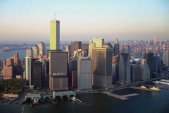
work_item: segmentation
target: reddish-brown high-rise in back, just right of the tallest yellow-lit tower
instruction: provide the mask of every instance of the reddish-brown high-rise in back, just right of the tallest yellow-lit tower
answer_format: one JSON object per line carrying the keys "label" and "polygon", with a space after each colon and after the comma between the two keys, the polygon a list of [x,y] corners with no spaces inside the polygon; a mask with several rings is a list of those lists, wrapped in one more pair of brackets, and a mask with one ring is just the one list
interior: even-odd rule
{"label": "reddish-brown high-rise in back, just right of the tallest yellow-lit tower", "polygon": [[81,49],[82,47],[82,42],[81,41],[74,41],[71,42],[71,56],[74,55],[74,51]]}

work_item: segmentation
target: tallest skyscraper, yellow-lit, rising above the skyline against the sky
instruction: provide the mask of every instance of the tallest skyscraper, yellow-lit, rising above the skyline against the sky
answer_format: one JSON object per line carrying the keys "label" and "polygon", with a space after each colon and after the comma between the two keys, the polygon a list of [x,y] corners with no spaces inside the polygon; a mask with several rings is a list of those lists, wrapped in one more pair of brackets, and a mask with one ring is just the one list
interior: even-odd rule
{"label": "tallest skyscraper, yellow-lit, rising above the skyline against the sky", "polygon": [[50,21],[50,50],[60,49],[60,22],[58,20]]}

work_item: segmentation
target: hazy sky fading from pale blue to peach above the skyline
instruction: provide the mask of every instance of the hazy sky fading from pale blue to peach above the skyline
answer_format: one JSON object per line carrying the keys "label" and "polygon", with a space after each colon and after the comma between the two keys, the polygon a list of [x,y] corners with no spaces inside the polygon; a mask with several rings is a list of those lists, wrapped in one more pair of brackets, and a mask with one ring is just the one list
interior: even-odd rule
{"label": "hazy sky fading from pale blue to peach above the skyline", "polygon": [[61,40],[169,39],[169,0],[0,0],[0,41],[49,40],[49,21]]}

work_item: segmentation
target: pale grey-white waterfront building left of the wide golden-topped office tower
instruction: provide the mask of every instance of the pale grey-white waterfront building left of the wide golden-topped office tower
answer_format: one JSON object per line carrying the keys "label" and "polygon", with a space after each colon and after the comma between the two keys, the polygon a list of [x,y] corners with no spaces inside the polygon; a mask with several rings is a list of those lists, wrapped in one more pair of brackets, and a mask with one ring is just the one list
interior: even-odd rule
{"label": "pale grey-white waterfront building left of the wide golden-topped office tower", "polygon": [[78,59],[77,89],[92,89],[92,62],[89,58]]}

